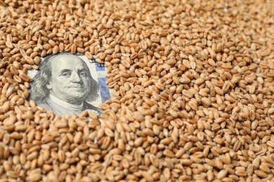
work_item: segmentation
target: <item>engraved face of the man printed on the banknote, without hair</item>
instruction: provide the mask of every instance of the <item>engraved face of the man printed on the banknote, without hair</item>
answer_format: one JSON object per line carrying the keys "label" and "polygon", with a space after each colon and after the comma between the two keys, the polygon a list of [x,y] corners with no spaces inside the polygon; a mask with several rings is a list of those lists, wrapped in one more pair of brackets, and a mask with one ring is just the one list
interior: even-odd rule
{"label": "engraved face of the man printed on the banknote, without hair", "polygon": [[70,104],[81,104],[89,94],[89,68],[79,57],[60,55],[51,62],[51,80],[46,87],[55,97]]}

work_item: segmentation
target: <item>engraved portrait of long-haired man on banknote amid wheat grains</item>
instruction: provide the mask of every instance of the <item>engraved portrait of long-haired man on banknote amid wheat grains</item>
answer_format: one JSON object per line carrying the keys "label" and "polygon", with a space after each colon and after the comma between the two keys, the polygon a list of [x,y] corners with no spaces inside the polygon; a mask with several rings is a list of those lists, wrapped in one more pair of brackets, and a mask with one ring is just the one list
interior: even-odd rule
{"label": "engraved portrait of long-haired man on banknote amid wheat grains", "polygon": [[56,114],[79,114],[102,109],[89,104],[98,97],[99,85],[83,59],[69,52],[48,55],[30,85],[30,99]]}

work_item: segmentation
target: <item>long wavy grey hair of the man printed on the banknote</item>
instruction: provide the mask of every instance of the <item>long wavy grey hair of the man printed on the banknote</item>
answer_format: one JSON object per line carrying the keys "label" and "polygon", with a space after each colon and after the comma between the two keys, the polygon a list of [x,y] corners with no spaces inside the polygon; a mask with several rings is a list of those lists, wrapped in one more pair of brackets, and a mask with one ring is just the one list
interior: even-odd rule
{"label": "long wavy grey hair of the man printed on the banknote", "polygon": [[[30,99],[39,103],[39,102],[43,102],[44,99],[48,97],[49,90],[46,87],[46,84],[48,84],[48,81],[51,80],[52,65],[54,64],[53,59],[62,55],[77,56],[77,55],[73,55],[70,52],[60,52],[57,55],[53,55],[53,54],[48,55],[39,65],[37,74],[34,76],[32,83],[30,83]],[[83,59],[81,58],[79,59],[82,62],[84,62]],[[86,62],[84,63],[86,64]],[[85,101],[93,102],[99,97],[99,94],[98,94],[99,84],[96,82],[96,80],[92,78],[90,71],[88,72],[89,72],[88,76],[91,80],[91,87]]]}

